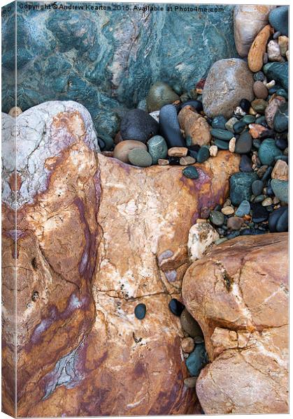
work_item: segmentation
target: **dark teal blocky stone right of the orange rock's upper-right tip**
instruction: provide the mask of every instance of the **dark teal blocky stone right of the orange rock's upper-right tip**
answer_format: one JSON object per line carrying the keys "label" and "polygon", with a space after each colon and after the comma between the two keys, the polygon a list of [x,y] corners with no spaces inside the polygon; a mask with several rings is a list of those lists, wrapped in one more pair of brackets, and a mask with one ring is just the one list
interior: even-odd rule
{"label": "dark teal blocky stone right of the orange rock's upper-right tip", "polygon": [[250,200],[252,182],[258,179],[255,172],[238,172],[230,178],[230,198],[233,205]]}

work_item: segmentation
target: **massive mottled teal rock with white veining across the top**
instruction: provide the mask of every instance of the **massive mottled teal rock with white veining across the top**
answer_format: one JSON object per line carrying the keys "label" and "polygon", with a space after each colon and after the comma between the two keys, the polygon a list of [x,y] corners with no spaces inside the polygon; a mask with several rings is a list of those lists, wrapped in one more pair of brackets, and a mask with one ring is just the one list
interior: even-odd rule
{"label": "massive mottled teal rock with white veining across the top", "polygon": [[[154,82],[190,91],[215,61],[237,57],[234,6],[213,6],[223,12],[180,12],[173,4],[168,12],[168,5],[160,4],[164,11],[151,12],[134,11],[135,3],[123,3],[130,11],[113,10],[114,3],[89,3],[112,10],[41,11],[24,10],[20,3],[17,105],[26,110],[52,99],[78,101],[90,111],[99,133],[113,135],[125,108],[136,108]],[[14,105],[12,20],[13,15],[5,17],[2,27],[4,112]]]}

